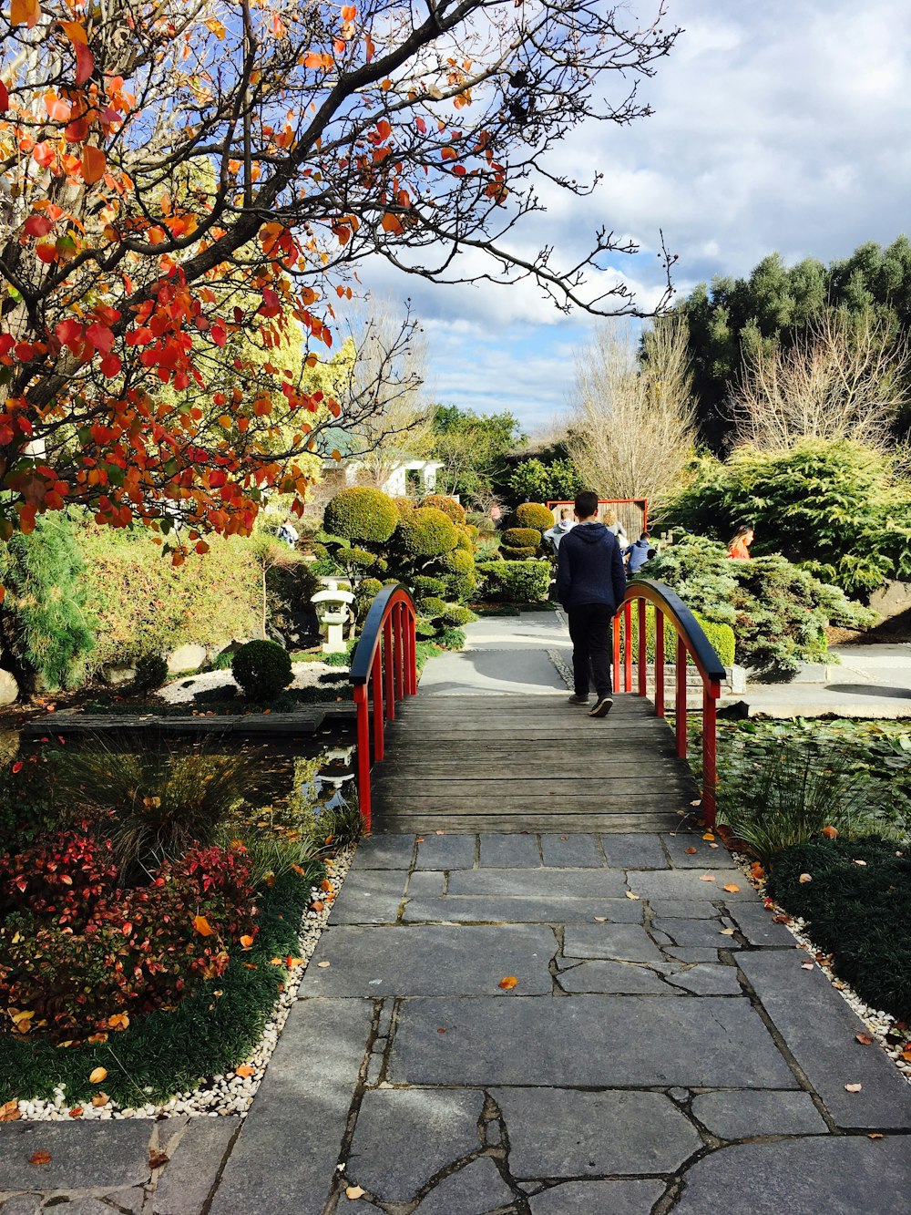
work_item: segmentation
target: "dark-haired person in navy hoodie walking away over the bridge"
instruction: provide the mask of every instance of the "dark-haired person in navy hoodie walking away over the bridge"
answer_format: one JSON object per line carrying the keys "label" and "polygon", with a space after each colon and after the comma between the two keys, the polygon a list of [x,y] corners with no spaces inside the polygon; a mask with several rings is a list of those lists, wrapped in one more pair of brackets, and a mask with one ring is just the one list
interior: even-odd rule
{"label": "dark-haired person in navy hoodie walking away over the bridge", "polygon": [[576,686],[571,705],[588,703],[589,677],[596,700],[589,717],[606,717],[611,700],[611,621],[623,603],[627,576],[623,556],[613,536],[598,522],[598,495],[583,490],[576,495],[578,524],[560,542],[556,566],[556,598],[570,617],[572,674]]}

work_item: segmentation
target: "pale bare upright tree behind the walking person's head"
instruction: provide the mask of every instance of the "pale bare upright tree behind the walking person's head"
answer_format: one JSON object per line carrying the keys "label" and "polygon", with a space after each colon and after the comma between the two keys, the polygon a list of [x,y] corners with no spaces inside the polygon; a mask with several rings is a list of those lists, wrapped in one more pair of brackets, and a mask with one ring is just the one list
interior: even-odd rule
{"label": "pale bare upright tree behind the walking person's head", "polygon": [[649,498],[672,490],[696,441],[689,330],[679,313],[641,339],[629,324],[599,328],[576,360],[566,446],[601,496]]}

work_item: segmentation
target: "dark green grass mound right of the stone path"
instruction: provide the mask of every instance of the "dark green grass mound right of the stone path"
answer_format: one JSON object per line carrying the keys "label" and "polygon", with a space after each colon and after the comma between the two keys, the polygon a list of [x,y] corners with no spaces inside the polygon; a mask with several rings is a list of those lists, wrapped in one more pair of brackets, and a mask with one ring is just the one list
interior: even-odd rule
{"label": "dark green grass mound right of the stone path", "polygon": [[[802,874],[811,881],[800,882]],[[807,921],[813,943],[861,999],[911,1022],[911,849],[873,836],[786,848],[768,893]]]}

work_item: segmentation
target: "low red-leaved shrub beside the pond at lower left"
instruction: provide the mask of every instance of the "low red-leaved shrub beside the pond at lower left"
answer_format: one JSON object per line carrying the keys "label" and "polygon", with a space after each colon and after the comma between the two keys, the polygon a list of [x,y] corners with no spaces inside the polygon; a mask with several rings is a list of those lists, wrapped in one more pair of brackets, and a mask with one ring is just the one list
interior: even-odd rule
{"label": "low red-leaved shrub beside the pond at lower left", "polygon": [[250,871],[234,853],[193,848],[131,891],[115,887],[108,855],[87,836],[57,835],[0,858],[7,1029],[55,1041],[124,1029],[222,974],[228,945],[255,936]]}

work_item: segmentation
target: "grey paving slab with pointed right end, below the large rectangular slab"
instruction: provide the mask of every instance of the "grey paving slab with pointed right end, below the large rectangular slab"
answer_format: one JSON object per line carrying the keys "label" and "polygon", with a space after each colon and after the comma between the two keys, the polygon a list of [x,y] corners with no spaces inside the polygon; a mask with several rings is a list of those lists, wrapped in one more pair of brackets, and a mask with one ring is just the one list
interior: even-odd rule
{"label": "grey paving slab with pointed right end, below the large rectangular slab", "polygon": [[702,1146],[660,1092],[494,1089],[514,1177],[673,1172]]}

